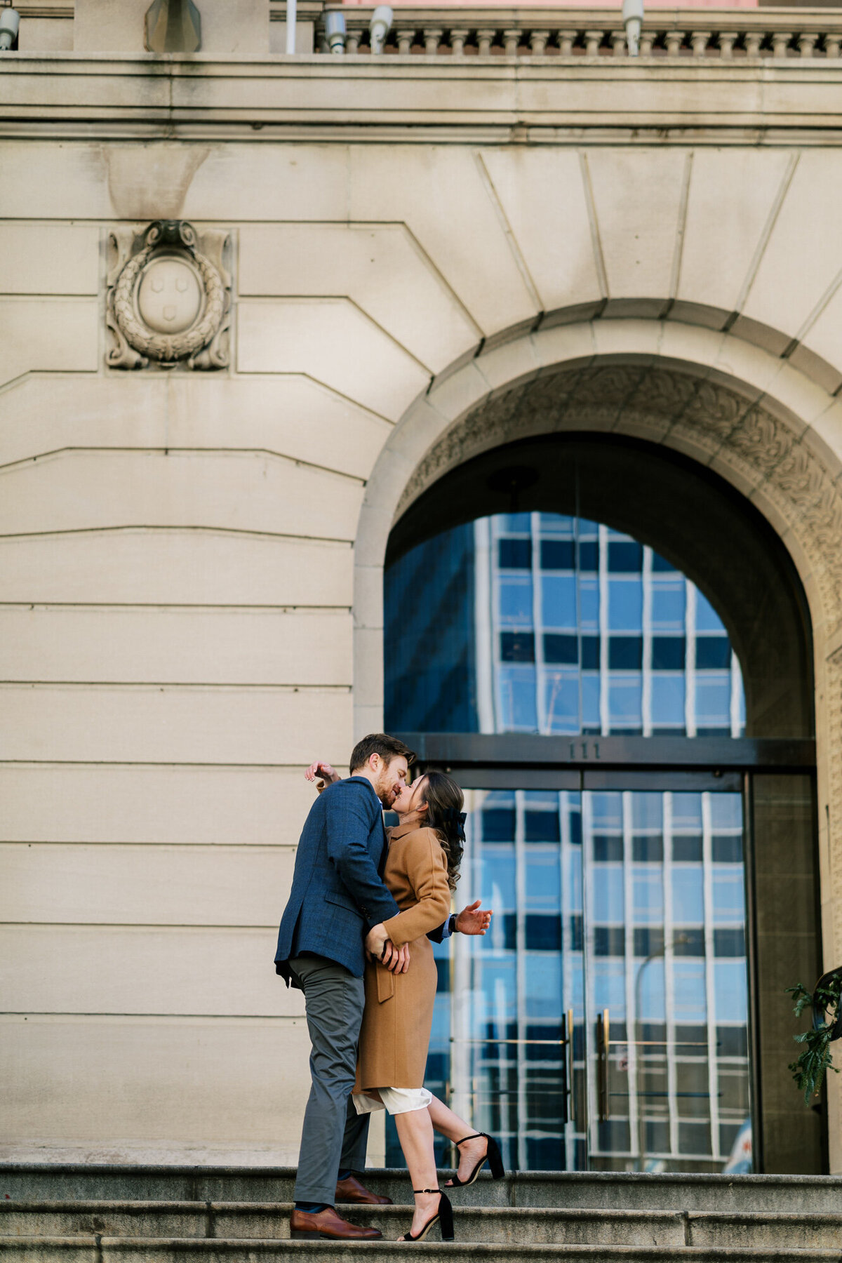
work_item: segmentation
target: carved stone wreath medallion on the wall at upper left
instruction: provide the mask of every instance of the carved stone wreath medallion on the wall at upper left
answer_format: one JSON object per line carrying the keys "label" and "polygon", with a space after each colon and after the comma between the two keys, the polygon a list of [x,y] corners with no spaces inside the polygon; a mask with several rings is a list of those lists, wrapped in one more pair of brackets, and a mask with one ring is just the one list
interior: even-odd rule
{"label": "carved stone wreath medallion on the wall at upper left", "polygon": [[231,278],[222,263],[226,232],[199,239],[184,220],[145,230],[115,229],[107,325],[119,369],[222,369],[228,362]]}

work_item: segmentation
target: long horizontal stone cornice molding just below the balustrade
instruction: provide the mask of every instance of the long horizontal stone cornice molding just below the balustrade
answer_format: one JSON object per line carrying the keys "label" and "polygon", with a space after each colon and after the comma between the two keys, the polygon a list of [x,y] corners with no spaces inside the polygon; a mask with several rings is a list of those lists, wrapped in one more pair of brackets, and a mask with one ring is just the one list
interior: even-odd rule
{"label": "long horizontal stone cornice molding just below the balustrade", "polygon": [[6,136],[842,144],[842,58],[5,54]]}

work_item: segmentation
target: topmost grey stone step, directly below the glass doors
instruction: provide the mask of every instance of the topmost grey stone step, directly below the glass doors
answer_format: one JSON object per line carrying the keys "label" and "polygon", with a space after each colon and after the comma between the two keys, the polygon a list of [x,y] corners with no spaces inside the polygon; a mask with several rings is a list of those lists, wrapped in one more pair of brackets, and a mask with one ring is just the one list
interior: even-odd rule
{"label": "topmost grey stone step, directly below the glass doors", "polygon": [[[278,1202],[292,1201],[294,1177],[290,1167],[0,1163],[0,1201]],[[393,1201],[412,1200],[405,1171],[372,1168],[365,1182]],[[832,1214],[842,1207],[842,1178],[519,1171],[499,1181],[483,1173],[456,1199],[461,1206]]]}

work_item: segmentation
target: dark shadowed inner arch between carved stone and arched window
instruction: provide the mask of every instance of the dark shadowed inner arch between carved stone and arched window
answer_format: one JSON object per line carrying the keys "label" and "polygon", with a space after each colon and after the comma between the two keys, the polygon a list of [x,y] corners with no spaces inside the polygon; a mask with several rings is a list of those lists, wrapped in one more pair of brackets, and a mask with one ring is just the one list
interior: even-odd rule
{"label": "dark shadowed inner arch between carved stone and arched window", "polygon": [[746,735],[814,735],[800,581],[778,536],[721,477],[674,451],[616,434],[560,432],[505,443],[457,465],[409,505],[389,537],[386,567],[419,542],[513,504],[521,513],[605,523],[675,565],[727,628],[742,664]]}

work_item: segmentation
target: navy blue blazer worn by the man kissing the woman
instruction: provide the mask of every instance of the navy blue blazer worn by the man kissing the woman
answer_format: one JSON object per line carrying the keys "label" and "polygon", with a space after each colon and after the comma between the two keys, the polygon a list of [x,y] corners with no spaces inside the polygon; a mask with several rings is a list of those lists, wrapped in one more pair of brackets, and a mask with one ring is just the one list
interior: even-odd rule
{"label": "navy blue blazer worn by the man kissing the woman", "polygon": [[288,986],[297,925],[295,952],[327,956],[362,978],[366,933],[400,911],[380,879],[386,853],[381,812],[365,777],[336,781],[311,807],[278,932],[275,973]]}

